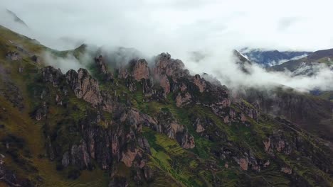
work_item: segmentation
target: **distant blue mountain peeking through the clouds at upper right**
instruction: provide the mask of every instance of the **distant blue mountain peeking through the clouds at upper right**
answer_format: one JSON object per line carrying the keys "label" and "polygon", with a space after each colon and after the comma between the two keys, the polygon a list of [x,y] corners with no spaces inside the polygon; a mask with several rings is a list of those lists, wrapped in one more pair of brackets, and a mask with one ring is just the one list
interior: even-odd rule
{"label": "distant blue mountain peeking through the clouds at upper right", "polygon": [[264,66],[273,66],[276,64],[281,64],[288,60],[295,60],[307,55],[312,52],[305,51],[278,51],[278,50],[260,50],[260,49],[249,49],[243,48],[240,50],[243,55],[248,57],[251,62],[258,64],[263,64]]}

